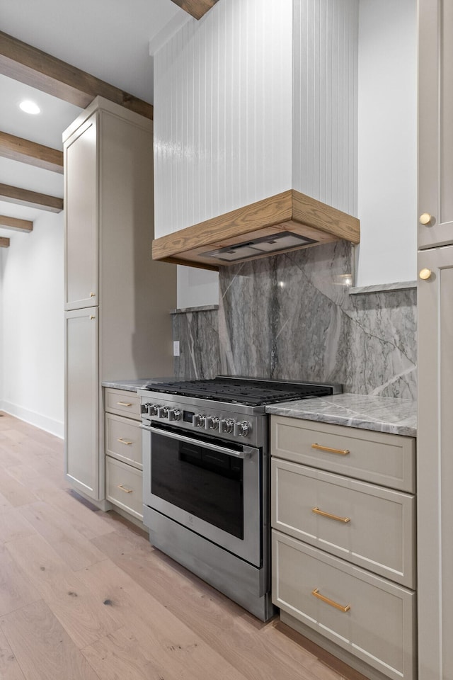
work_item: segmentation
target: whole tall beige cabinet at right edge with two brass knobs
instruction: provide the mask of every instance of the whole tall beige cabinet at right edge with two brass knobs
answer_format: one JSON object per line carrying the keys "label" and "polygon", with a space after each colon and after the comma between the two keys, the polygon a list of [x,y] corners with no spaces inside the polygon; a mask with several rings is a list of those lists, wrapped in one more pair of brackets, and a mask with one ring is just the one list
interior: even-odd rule
{"label": "whole tall beige cabinet at right edge with two brass knobs", "polygon": [[418,653],[453,680],[453,4],[419,0]]}

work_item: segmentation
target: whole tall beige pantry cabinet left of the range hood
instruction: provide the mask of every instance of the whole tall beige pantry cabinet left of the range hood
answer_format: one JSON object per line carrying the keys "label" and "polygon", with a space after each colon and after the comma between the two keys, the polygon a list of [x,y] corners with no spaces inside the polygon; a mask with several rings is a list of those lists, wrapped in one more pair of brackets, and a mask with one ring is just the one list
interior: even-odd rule
{"label": "whole tall beige pantry cabinet left of the range hood", "polygon": [[152,261],[152,121],[96,98],[63,134],[65,473],[105,506],[103,381],[171,375],[176,267]]}

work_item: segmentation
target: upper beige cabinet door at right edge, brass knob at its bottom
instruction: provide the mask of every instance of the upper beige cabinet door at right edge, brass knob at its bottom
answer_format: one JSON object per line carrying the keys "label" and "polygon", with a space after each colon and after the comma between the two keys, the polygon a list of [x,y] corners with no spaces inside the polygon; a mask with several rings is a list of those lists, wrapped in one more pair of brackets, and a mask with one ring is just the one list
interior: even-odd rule
{"label": "upper beige cabinet door at right edge, brass knob at its bottom", "polygon": [[[419,0],[418,247],[453,243],[453,4]],[[426,217],[428,219],[428,217]]]}

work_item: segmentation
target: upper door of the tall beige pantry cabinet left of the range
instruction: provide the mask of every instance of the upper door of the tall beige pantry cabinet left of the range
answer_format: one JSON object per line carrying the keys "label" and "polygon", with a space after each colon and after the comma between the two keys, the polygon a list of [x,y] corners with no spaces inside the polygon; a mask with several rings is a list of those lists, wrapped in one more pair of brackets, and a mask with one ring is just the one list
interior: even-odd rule
{"label": "upper door of the tall beige pantry cabinet left of the range", "polygon": [[64,145],[65,309],[98,301],[96,114]]}

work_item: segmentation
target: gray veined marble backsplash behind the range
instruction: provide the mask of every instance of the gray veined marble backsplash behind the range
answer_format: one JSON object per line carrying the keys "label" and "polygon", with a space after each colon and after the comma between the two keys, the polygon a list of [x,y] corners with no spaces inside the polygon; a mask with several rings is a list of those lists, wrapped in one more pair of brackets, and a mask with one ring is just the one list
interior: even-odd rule
{"label": "gray veined marble backsplash behind the range", "polygon": [[222,268],[218,312],[173,316],[176,375],[341,382],[414,399],[416,290],[350,295],[353,255],[336,242]]}

